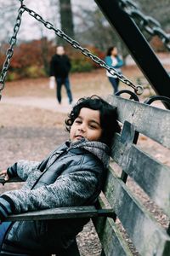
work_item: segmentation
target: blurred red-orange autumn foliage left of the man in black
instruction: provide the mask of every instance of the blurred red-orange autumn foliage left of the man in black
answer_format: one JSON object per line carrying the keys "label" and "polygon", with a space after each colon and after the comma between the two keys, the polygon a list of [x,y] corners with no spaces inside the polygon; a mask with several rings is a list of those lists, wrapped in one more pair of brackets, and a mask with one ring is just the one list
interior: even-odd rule
{"label": "blurred red-orange autumn foliage left of the man in black", "polygon": [[[3,51],[0,56],[1,67],[3,66],[4,55],[7,49],[8,45],[3,45]],[[8,70],[8,79],[37,78],[47,75],[48,62],[53,53],[54,46],[46,38],[15,46],[14,55]]]}

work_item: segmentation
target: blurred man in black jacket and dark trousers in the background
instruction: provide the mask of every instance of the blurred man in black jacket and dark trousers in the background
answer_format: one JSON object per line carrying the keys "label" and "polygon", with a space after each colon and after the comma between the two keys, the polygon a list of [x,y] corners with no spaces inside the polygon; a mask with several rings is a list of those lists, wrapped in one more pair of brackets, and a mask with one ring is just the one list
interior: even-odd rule
{"label": "blurred man in black jacket and dark trousers in the background", "polygon": [[65,90],[69,99],[69,103],[72,102],[71,84],[69,81],[69,72],[71,70],[71,61],[68,56],[65,55],[65,49],[63,46],[56,48],[56,54],[53,55],[50,61],[50,79],[55,79],[57,84],[56,96],[59,104],[61,103],[61,87],[64,84]]}

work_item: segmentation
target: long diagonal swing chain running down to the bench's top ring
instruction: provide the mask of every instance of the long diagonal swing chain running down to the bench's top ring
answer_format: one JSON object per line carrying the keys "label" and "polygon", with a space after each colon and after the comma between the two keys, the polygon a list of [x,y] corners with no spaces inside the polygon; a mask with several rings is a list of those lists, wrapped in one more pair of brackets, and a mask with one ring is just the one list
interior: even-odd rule
{"label": "long diagonal swing chain running down to the bench's top ring", "polygon": [[42,19],[42,16],[38,15],[36,12],[34,12],[31,9],[26,8],[25,5],[23,5],[23,9],[26,10],[26,12],[28,12],[29,15],[31,15],[33,18],[35,18],[36,20],[42,22],[42,24],[44,26],[46,26],[48,29],[51,29],[55,32],[55,34],[57,36],[59,36],[59,38],[63,38],[65,41],[67,41],[69,44],[71,44],[71,46],[75,49],[80,49],[82,52],[82,55],[85,55],[89,58],[92,59],[92,61],[94,61],[95,63],[99,64],[100,67],[104,67],[109,73],[111,73],[111,75],[116,76],[117,79],[121,80],[122,83],[127,84],[128,86],[132,87],[133,90],[137,93],[137,94],[142,94],[143,93],[143,86],[141,85],[135,85],[133,84],[132,81],[130,81],[129,79],[127,79],[125,76],[122,75],[122,73],[117,73],[116,69],[113,67],[109,67],[105,61],[102,61],[101,59],[99,59],[98,56],[93,55],[88,49],[83,48],[77,41],[73,40],[72,38],[70,38],[69,36],[67,36],[65,34],[65,32],[62,32],[59,29],[55,29],[54,25],[48,21],[45,21]]}

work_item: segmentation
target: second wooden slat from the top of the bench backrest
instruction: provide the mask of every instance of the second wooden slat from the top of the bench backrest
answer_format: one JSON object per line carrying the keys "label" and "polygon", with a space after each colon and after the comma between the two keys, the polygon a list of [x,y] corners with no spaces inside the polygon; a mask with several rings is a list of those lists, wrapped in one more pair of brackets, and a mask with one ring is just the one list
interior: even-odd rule
{"label": "second wooden slat from the top of the bench backrest", "polygon": [[116,134],[111,157],[170,217],[170,168]]}

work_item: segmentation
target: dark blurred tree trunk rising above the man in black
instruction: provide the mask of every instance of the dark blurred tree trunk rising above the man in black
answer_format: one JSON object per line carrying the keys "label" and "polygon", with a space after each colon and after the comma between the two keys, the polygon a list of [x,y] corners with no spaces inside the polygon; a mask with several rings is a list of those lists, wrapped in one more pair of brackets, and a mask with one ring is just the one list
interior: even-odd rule
{"label": "dark blurred tree trunk rising above the man in black", "polygon": [[[61,30],[69,37],[74,38],[74,24],[71,9],[71,0],[59,0],[59,12]],[[59,44],[65,44],[62,38],[58,39]]]}

